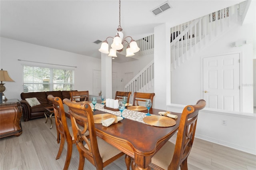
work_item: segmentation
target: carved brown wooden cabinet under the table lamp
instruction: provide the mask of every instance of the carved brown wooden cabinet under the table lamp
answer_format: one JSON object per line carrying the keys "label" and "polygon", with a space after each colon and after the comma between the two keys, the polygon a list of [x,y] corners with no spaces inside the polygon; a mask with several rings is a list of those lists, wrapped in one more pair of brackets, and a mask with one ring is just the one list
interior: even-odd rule
{"label": "carved brown wooden cabinet under the table lamp", "polygon": [[8,99],[0,103],[0,138],[22,134],[21,115],[22,108],[18,99]]}

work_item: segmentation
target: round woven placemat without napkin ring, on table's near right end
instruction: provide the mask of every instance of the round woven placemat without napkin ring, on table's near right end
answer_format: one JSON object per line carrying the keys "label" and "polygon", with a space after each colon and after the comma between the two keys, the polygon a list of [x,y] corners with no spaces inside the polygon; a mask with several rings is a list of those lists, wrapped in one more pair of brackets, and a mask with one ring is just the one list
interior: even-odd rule
{"label": "round woven placemat without napkin ring, on table's near right end", "polygon": [[157,115],[144,117],[143,121],[156,127],[172,127],[176,125],[176,121],[174,121],[172,118]]}

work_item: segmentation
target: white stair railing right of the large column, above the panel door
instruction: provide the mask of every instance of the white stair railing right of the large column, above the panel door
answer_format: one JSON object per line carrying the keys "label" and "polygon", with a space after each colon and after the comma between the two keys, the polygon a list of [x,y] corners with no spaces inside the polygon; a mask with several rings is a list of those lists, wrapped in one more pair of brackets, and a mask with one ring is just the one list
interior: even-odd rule
{"label": "white stair railing right of the large column, above the panel door", "polygon": [[171,71],[238,23],[238,4],[171,28]]}

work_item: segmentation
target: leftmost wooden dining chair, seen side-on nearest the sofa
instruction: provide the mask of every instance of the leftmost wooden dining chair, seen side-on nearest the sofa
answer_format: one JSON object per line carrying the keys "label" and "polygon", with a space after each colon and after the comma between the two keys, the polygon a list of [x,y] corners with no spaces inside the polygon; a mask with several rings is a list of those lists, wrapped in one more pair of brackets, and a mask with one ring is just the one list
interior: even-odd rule
{"label": "leftmost wooden dining chair, seen side-on nearest the sofa", "polygon": [[[56,160],[60,158],[60,155],[62,154],[62,150],[64,148],[65,140],[66,140],[67,155],[66,155],[66,161],[63,169],[67,170],[71,160],[71,156],[72,156],[72,145],[76,141],[74,140],[72,127],[71,126],[68,127],[63,103],[60,97],[54,97],[53,95],[48,95],[47,99],[49,101],[52,101],[52,105],[54,107],[55,120],[56,120],[55,123],[58,129],[58,132],[60,134],[60,148],[56,156]],[[86,132],[86,135],[88,134],[89,132]]]}

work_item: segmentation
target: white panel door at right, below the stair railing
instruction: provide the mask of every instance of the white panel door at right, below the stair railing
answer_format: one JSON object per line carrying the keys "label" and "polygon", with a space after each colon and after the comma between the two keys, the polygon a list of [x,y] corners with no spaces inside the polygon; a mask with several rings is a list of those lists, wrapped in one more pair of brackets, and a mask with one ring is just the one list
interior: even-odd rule
{"label": "white panel door at right, below the stair railing", "polygon": [[240,111],[239,53],[203,59],[206,107]]}

